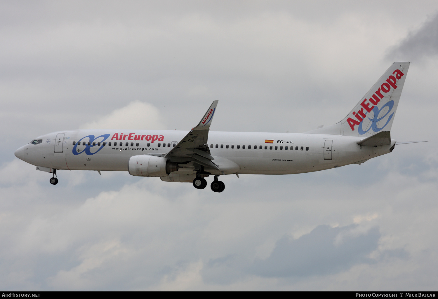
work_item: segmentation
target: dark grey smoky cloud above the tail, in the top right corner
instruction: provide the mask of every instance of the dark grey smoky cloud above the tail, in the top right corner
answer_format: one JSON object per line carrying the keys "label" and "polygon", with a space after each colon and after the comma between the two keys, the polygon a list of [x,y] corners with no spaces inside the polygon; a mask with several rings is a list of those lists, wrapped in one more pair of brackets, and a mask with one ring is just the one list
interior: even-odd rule
{"label": "dark grey smoky cloud above the tail, in the top right corner", "polygon": [[410,32],[387,54],[389,60],[420,60],[438,55],[438,13],[417,31]]}

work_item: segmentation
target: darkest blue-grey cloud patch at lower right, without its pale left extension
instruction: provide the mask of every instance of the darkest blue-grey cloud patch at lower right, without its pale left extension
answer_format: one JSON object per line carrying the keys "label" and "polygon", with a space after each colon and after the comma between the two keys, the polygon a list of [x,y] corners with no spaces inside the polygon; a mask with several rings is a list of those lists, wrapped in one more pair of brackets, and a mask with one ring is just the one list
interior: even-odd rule
{"label": "darkest blue-grey cloud patch at lower right, without its pale left extension", "polygon": [[[319,225],[296,240],[284,236],[267,259],[254,262],[252,271],[264,277],[322,275],[370,262],[367,254],[377,249],[381,234],[376,227],[357,236],[348,233],[356,227]],[[342,235],[337,244],[336,239]]]}

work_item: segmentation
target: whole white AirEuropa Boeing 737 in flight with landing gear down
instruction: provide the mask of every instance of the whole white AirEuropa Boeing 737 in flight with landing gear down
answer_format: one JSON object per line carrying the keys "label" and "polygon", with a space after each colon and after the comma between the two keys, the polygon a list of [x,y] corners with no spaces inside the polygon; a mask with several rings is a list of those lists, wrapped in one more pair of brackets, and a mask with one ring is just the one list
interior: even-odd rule
{"label": "whole white AirEuropa Boeing 737 in flight with landing gear down", "polygon": [[[50,172],[128,171],[166,182],[207,186],[223,192],[219,176],[294,174],[361,164],[395,148],[391,126],[409,69],[394,62],[356,106],[330,126],[305,133],[210,131],[218,100],[188,133],[177,130],[66,130],[42,135],[18,148],[15,156]],[[423,142],[408,141],[397,144]]]}

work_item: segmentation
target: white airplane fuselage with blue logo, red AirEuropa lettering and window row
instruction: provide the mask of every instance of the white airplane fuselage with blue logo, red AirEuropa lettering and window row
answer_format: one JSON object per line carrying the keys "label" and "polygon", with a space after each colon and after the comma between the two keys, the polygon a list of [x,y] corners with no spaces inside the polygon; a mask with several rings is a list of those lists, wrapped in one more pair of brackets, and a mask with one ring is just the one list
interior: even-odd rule
{"label": "white airplane fuselage with blue logo, red AirEuropa lettering and window row", "polygon": [[[59,131],[38,137],[41,143],[26,144],[16,155],[22,155],[22,160],[30,164],[52,169],[128,171],[131,156],[165,154],[186,134],[177,130]],[[208,147],[212,156],[228,159],[240,168],[226,174],[293,174],[362,162],[389,153],[395,144],[391,140],[385,146],[360,146],[356,143],[360,139],[329,134],[210,131]],[[189,172],[190,167],[175,173]]]}

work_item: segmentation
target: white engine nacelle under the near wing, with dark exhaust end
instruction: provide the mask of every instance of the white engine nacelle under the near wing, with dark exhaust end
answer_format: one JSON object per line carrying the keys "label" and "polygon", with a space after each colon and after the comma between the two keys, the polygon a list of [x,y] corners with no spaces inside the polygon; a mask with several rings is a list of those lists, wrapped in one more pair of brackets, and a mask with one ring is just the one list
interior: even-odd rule
{"label": "white engine nacelle under the near wing, with dark exhaust end", "polygon": [[133,176],[168,176],[170,172],[177,170],[177,163],[151,155],[132,156],[128,163],[129,174]]}

